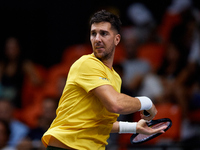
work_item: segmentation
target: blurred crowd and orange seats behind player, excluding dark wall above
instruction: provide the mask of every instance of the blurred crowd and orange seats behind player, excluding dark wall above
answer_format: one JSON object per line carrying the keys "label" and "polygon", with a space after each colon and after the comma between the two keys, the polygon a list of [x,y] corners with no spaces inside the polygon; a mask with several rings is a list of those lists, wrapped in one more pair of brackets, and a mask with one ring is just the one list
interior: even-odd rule
{"label": "blurred crowd and orange seats behind player, excluding dark wall above", "polygon": [[[168,134],[147,144],[200,140],[200,11],[190,0],[173,0],[161,23],[142,3],[127,8],[113,68],[122,78],[121,92],[150,97],[157,118],[173,122]],[[0,149],[43,150],[43,133],[56,116],[72,63],[92,53],[83,43],[63,50],[58,64],[45,68],[25,58],[16,37],[5,41],[0,57]],[[138,121],[139,114],[119,120]],[[130,134],[111,134],[108,150],[127,149]]]}

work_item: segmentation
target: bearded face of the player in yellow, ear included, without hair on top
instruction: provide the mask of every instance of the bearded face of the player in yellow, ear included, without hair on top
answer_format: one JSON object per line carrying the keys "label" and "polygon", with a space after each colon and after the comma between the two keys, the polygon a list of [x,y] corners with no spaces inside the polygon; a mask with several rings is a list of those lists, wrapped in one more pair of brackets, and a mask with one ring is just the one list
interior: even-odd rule
{"label": "bearded face of the player in yellow, ear included, without hair on top", "polygon": [[104,61],[113,56],[120,35],[111,28],[109,22],[94,23],[91,25],[90,41],[95,57]]}

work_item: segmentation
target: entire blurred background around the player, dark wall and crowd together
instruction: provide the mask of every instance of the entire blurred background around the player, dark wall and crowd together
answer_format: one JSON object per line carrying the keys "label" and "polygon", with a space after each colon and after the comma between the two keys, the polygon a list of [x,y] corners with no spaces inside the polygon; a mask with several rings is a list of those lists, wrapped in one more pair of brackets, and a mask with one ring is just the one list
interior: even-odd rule
{"label": "entire blurred background around the player, dark wall and crowd together", "polygon": [[[120,16],[114,69],[123,93],[150,97],[165,134],[140,145],[111,134],[107,150],[200,149],[198,0],[0,1],[0,149],[42,150],[71,64],[92,53],[91,15]],[[119,120],[138,121],[139,114]]]}

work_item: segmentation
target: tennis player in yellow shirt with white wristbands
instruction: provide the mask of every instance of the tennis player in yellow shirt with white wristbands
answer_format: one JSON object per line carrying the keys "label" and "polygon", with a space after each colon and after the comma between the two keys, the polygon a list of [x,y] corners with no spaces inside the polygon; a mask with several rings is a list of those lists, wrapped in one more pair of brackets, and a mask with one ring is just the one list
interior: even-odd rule
{"label": "tennis player in yellow shirt with white wristbands", "polygon": [[[121,21],[105,10],[91,20],[90,41],[93,53],[84,55],[70,68],[59,101],[57,116],[42,137],[47,150],[105,150],[111,132],[163,133],[145,120],[157,113],[148,97],[120,93],[121,78],[112,68],[115,47],[119,44]],[[147,110],[149,117],[142,115]],[[117,122],[119,114],[141,111],[139,122]]]}

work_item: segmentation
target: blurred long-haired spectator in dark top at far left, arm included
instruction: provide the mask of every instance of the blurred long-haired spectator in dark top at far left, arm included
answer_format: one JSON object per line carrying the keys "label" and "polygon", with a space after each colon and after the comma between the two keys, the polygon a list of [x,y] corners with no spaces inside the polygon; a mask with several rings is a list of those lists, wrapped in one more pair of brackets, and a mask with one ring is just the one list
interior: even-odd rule
{"label": "blurred long-haired spectator in dark top at far left, arm included", "polygon": [[10,99],[16,107],[21,108],[24,75],[28,75],[34,84],[41,83],[33,66],[30,60],[23,58],[18,39],[9,37],[0,60],[0,96]]}

